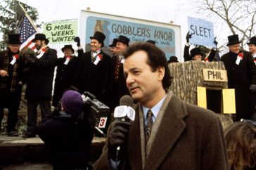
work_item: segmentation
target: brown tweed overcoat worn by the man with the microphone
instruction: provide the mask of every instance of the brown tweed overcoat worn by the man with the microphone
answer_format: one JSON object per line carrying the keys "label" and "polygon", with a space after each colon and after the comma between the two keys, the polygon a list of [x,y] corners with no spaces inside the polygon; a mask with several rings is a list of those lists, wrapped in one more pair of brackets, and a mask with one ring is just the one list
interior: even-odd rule
{"label": "brown tweed overcoat worn by the man with the microphone", "polygon": [[[172,91],[153,124],[147,154],[144,138],[143,112],[137,105],[122,169],[228,169],[222,124],[215,113],[184,103]],[[108,140],[94,169],[110,169]]]}

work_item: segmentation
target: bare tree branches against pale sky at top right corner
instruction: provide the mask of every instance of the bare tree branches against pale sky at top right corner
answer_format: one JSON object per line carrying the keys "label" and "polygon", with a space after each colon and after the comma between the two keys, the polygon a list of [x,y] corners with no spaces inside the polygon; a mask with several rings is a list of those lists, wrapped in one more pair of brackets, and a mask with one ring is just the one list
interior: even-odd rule
{"label": "bare tree branches against pale sky at top right corner", "polygon": [[212,13],[232,34],[239,34],[243,44],[255,35],[256,0],[198,0],[197,4],[199,11]]}

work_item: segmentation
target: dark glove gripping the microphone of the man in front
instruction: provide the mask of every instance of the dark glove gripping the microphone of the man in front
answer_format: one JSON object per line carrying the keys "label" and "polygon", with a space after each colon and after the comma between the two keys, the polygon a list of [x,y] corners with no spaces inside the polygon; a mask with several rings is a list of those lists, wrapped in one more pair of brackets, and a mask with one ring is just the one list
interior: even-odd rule
{"label": "dark glove gripping the microphone of the man in front", "polygon": [[118,159],[123,158],[129,136],[131,122],[117,120],[113,129],[108,134],[108,157],[116,161],[117,147],[120,146]]}

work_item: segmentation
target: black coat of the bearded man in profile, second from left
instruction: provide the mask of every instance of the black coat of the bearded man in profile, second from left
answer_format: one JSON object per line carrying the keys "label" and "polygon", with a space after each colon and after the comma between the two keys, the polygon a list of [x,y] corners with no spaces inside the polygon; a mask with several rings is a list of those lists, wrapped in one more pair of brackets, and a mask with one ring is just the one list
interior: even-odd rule
{"label": "black coat of the bearded man in profile, second from left", "polygon": [[57,51],[47,47],[44,55],[30,66],[30,70],[27,73],[26,99],[46,98],[51,100],[56,60]]}

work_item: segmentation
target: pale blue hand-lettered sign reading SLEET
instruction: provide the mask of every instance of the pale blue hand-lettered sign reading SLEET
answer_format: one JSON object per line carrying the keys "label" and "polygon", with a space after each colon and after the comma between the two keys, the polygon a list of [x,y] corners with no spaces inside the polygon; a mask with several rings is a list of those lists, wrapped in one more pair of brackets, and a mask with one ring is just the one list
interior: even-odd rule
{"label": "pale blue hand-lettered sign reading SLEET", "polygon": [[188,31],[192,34],[189,42],[195,45],[215,47],[215,34],[210,21],[188,17]]}

